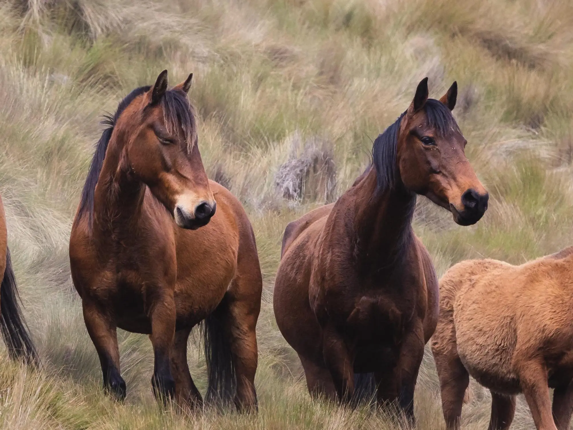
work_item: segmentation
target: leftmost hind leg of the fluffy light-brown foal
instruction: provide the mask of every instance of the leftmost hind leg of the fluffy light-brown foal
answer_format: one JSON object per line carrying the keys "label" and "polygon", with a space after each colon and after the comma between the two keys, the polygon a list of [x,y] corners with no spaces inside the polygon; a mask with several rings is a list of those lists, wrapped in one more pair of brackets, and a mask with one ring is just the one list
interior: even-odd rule
{"label": "leftmost hind leg of the fluffy light-brown foal", "polygon": [[442,394],[442,411],[449,430],[460,428],[464,393],[469,385],[469,374],[457,353],[442,355],[434,350],[435,367],[438,371]]}

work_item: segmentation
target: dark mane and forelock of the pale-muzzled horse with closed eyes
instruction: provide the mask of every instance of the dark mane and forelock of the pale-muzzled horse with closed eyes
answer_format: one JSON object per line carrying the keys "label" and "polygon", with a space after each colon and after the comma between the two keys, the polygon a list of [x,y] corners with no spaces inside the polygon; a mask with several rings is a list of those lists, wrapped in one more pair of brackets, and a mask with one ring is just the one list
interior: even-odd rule
{"label": "dark mane and forelock of the pale-muzzled horse with closed eyes", "polygon": [[[104,126],[107,126],[101,134],[100,140],[96,143],[96,150],[93,154],[92,163],[89,166],[88,177],[85,179],[84,189],[81,192],[80,209],[78,210],[77,220],[79,220],[85,213],[88,213],[89,228],[92,227],[93,221],[93,200],[97,185],[97,180],[100,177],[101,166],[103,166],[105,159],[105,152],[109,144],[109,140],[113,134],[113,129],[117,124],[117,120],[128,107],[143,93],[151,89],[150,86],[139,87],[130,92],[123,100],[117,105],[115,114],[104,115],[101,121]],[[193,146],[197,144],[197,124],[195,123],[195,111],[189,103],[187,95],[183,91],[170,90],[166,91],[162,97],[161,105],[163,108],[164,121],[170,133],[175,132],[178,127],[183,131],[183,136],[187,145],[187,151],[191,151]]]}

